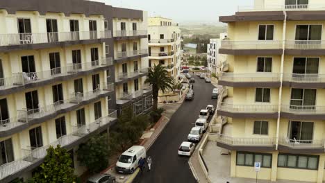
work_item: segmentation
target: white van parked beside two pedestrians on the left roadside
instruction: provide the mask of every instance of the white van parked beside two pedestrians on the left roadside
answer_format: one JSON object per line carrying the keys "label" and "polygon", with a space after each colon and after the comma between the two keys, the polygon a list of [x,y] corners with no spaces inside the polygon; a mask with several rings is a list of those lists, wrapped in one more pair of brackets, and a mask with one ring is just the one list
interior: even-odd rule
{"label": "white van parked beside two pedestrians on the left roadside", "polygon": [[117,173],[133,173],[138,168],[140,157],[146,158],[146,149],[143,146],[132,146],[128,148],[116,162],[115,170]]}

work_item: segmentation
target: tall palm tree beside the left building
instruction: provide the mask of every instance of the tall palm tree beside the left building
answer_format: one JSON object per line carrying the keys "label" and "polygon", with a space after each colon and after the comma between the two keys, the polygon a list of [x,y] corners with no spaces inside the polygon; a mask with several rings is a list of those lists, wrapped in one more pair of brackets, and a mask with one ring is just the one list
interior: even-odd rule
{"label": "tall palm tree beside the left building", "polygon": [[158,108],[158,92],[159,90],[163,93],[173,90],[174,79],[168,76],[168,71],[161,64],[156,64],[149,69],[147,80],[145,83],[152,85],[152,96],[153,96],[153,110]]}

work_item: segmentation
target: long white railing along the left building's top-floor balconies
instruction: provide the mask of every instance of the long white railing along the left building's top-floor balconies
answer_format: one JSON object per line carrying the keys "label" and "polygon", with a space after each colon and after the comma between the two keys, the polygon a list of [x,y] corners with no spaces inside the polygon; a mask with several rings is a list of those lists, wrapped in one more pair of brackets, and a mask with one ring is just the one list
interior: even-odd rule
{"label": "long white railing along the left building's top-floor balconies", "polygon": [[112,35],[110,30],[58,32],[58,33],[1,34],[0,46],[67,42],[67,41],[77,41],[77,40],[96,40],[96,39],[111,38],[111,37]]}

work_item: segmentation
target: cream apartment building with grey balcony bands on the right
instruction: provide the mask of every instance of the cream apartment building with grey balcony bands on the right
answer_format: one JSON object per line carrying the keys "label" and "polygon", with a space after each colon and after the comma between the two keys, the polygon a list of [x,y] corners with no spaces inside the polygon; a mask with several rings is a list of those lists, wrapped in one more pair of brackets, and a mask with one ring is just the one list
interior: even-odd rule
{"label": "cream apartment building with grey balcony bands on the right", "polygon": [[323,182],[325,2],[256,0],[228,24],[217,146],[231,151],[231,176]]}

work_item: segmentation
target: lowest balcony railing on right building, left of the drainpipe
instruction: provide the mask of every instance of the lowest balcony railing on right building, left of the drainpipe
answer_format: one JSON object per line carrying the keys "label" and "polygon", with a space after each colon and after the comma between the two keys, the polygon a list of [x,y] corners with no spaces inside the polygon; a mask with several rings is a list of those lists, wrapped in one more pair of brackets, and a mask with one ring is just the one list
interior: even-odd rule
{"label": "lowest balcony railing on right building, left of the drainpipe", "polygon": [[227,143],[231,146],[274,146],[274,138],[246,138],[246,137],[228,137],[218,134],[218,142]]}

